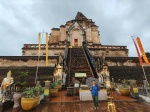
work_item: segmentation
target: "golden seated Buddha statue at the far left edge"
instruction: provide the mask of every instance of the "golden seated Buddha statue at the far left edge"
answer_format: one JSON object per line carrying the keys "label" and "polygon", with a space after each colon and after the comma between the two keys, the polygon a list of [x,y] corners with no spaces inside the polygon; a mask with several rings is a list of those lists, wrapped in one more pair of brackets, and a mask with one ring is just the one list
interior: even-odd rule
{"label": "golden seated Buddha statue at the far left edge", "polygon": [[6,87],[9,87],[11,84],[14,83],[14,78],[11,77],[11,70],[7,73],[7,77],[5,77],[2,81],[2,84],[1,84],[1,88],[2,89],[5,89]]}

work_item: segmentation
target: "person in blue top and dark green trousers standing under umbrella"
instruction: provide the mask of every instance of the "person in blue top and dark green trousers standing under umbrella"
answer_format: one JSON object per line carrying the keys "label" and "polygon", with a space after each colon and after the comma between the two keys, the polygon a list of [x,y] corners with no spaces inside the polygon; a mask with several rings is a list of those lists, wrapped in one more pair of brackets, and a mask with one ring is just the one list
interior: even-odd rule
{"label": "person in blue top and dark green trousers standing under umbrella", "polygon": [[100,88],[96,85],[95,80],[92,82],[92,87],[90,88],[92,98],[93,98],[93,103],[94,103],[94,109],[98,109],[98,91]]}

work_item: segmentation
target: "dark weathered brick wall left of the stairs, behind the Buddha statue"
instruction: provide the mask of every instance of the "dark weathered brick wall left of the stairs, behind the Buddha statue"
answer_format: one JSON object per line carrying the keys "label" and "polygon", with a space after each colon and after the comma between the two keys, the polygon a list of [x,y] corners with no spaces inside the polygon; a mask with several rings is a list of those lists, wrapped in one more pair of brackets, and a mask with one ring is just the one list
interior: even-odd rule
{"label": "dark weathered brick wall left of the stairs, behind the Buddha statue", "polygon": [[[3,78],[7,76],[7,72],[11,70],[12,71],[12,77],[14,77],[14,81],[18,81],[18,76],[21,72],[28,72],[29,76],[27,77],[28,83],[34,83],[35,76],[36,76],[36,70],[37,67],[0,67],[0,83],[2,82]],[[54,67],[39,67],[38,68],[38,78],[40,79],[52,79],[54,73]]]}

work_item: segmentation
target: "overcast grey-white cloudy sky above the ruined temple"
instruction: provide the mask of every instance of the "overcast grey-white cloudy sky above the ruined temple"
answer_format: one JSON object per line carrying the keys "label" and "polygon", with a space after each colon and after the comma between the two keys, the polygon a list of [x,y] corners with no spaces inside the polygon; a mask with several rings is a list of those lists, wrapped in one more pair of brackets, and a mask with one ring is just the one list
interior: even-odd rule
{"label": "overcast grey-white cloudy sky above the ruined temple", "polygon": [[125,45],[137,56],[134,35],[150,52],[150,0],[0,0],[0,56],[21,56],[23,44],[38,43],[39,32],[50,33],[77,12],[99,26],[101,44]]}

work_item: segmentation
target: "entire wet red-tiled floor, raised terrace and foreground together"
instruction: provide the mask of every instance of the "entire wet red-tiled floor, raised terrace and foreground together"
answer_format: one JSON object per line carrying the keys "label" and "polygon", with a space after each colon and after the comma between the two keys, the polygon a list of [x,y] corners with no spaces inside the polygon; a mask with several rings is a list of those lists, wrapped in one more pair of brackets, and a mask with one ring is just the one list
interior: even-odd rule
{"label": "entire wet red-tiled floor, raised terrace and foreground together", "polygon": [[[130,96],[122,96],[113,92],[112,101],[99,101],[99,109],[93,108],[92,101],[81,101],[79,96],[67,96],[66,91],[58,93],[58,97],[51,98],[50,102],[40,103],[35,109],[28,112],[150,112],[150,103],[141,99],[133,99]],[[108,104],[114,104],[114,108]],[[27,112],[21,107],[9,108],[4,112]]]}

